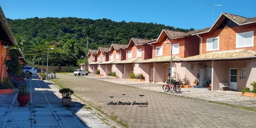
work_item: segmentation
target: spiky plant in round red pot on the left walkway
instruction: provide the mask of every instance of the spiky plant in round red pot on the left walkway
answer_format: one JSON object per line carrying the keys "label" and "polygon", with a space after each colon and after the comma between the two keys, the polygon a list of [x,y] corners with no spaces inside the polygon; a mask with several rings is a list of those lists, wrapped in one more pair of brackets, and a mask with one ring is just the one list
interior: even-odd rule
{"label": "spiky plant in round red pot on the left walkway", "polygon": [[19,89],[17,100],[20,107],[26,107],[30,101],[30,93],[27,91],[26,83]]}

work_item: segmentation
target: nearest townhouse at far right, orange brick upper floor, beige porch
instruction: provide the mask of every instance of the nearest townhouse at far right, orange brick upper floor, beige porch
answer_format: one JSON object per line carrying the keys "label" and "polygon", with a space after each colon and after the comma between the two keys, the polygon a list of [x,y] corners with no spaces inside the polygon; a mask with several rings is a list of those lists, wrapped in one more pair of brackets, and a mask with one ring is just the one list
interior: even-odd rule
{"label": "nearest townhouse at far right, orange brick upper floor, beige porch", "polygon": [[181,59],[197,68],[189,79],[198,78],[200,87],[211,80],[212,90],[219,89],[218,83],[228,83],[234,91],[251,87],[256,78],[255,31],[256,17],[221,13],[208,30],[192,34],[200,37],[200,55]]}

